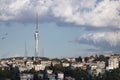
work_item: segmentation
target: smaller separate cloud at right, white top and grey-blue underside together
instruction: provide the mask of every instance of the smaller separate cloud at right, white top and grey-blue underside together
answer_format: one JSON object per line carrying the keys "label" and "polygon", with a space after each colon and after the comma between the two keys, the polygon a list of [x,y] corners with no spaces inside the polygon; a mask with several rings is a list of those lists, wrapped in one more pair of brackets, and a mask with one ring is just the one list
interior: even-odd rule
{"label": "smaller separate cloud at right, white top and grey-blue underside together", "polygon": [[118,53],[120,48],[119,36],[120,36],[120,32],[89,33],[89,34],[84,34],[80,36],[77,39],[77,42],[81,44],[88,44],[88,45],[95,46],[96,48],[98,48],[98,50],[103,52],[105,51],[105,52]]}

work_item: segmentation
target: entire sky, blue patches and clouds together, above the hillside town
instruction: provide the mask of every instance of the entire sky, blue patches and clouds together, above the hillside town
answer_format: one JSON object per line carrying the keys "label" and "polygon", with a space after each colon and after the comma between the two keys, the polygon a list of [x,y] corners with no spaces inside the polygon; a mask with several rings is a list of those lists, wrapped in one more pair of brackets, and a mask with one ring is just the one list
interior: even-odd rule
{"label": "entire sky, blue patches and clouds together, above the hillside town", "polygon": [[120,0],[0,0],[0,58],[120,54]]}

